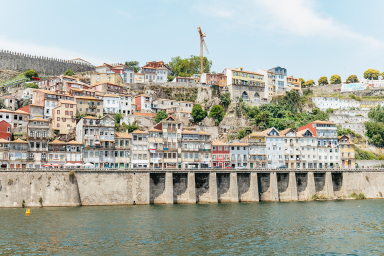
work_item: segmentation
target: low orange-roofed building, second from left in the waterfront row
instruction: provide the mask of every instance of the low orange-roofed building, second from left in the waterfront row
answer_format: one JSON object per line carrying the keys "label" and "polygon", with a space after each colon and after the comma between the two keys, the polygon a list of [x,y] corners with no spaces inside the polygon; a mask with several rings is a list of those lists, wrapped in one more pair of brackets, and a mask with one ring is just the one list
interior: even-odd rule
{"label": "low orange-roofed building, second from left in the waterfront row", "polygon": [[[9,142],[9,168],[26,168],[28,142],[17,138]],[[2,163],[2,162],[1,162]]]}

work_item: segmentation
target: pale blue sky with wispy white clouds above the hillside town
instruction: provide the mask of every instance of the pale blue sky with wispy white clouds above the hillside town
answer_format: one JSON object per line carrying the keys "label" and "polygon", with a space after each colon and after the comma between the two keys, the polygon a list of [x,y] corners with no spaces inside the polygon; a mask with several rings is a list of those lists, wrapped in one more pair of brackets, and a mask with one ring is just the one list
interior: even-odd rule
{"label": "pale blue sky with wispy white clouds above the hillside town", "polygon": [[142,66],[199,55],[200,26],[216,72],[281,66],[344,80],[384,71],[382,9],[373,0],[2,0],[0,49]]}

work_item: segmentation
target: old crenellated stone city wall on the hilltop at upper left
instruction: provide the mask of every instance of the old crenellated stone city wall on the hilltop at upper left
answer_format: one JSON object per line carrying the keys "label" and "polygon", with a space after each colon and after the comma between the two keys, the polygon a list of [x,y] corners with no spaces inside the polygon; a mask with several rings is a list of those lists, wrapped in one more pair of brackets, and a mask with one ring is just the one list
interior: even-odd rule
{"label": "old crenellated stone city wall on the hilltop at upper left", "polygon": [[46,56],[32,56],[21,52],[0,51],[0,69],[23,72],[34,69],[40,74],[59,75],[67,69],[74,72],[94,70],[94,65],[69,61],[64,59],[51,58]]}

